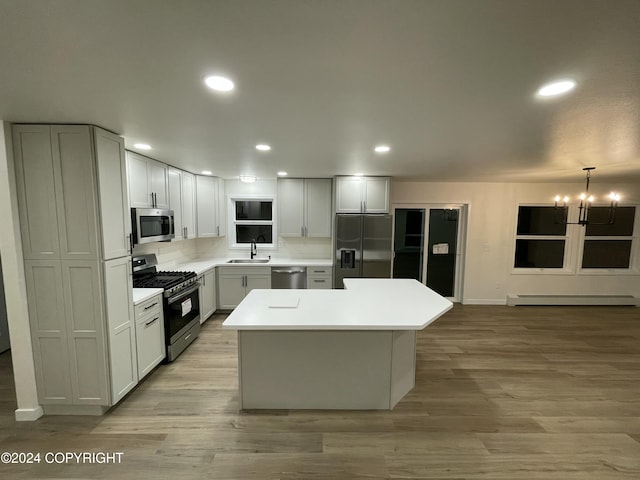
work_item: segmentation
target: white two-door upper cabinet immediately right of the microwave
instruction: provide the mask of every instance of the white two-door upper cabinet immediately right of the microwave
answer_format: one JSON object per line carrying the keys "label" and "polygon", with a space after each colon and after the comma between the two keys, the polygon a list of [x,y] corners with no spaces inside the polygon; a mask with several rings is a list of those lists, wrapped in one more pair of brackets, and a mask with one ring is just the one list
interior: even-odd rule
{"label": "white two-door upper cabinet immediately right of the microwave", "polygon": [[169,167],[169,208],[173,210],[175,240],[195,238],[195,175]]}

